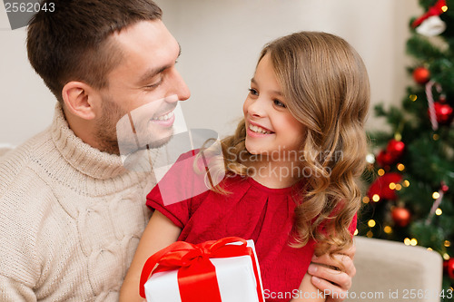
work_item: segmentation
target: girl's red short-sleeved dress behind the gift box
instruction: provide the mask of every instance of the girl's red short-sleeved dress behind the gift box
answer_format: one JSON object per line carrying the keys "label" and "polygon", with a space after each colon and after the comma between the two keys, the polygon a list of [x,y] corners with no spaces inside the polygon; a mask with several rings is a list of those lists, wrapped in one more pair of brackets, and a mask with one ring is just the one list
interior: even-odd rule
{"label": "girl's red short-sleeved dress behind the gift box", "polygon": [[[171,173],[175,186],[191,179],[187,176],[192,175],[192,166],[184,173],[172,171],[167,175]],[[163,204],[160,188],[156,186],[147,196],[146,204],[182,228],[178,240],[197,244],[231,236],[252,239],[266,301],[290,301],[301,285],[314,251],[312,240],[303,248],[289,246],[299,199],[297,191],[301,186],[270,189],[252,178],[240,176],[226,177],[222,185],[231,194],[207,190],[170,205]],[[356,217],[353,222],[350,229],[356,228]]]}

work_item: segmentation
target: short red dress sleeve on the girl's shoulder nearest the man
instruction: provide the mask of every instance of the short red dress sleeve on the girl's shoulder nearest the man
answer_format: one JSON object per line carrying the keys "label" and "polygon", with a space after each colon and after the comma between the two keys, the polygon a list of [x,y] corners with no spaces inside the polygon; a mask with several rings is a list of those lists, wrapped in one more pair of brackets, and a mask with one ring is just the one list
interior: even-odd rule
{"label": "short red dress sleeve on the girl's shoulder nearest the man", "polygon": [[[147,195],[146,205],[157,209],[177,227],[184,228],[191,219],[193,198],[206,192],[201,167],[194,168],[197,151],[183,153]],[[203,167],[202,167],[203,168]]]}

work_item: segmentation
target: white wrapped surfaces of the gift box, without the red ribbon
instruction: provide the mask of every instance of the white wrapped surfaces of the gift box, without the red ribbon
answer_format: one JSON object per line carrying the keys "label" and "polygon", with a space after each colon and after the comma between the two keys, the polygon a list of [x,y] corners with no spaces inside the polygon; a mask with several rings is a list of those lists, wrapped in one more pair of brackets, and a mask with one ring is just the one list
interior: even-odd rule
{"label": "white wrapped surfaces of the gift box, without the red ribbon", "polygon": [[[257,259],[253,241],[247,240],[247,243],[247,246],[253,250],[254,258]],[[222,302],[264,301],[262,278],[257,260],[255,265],[258,280],[255,278],[251,256],[210,258],[210,261],[216,270]],[[177,273],[178,269],[153,274],[144,285],[147,302],[183,302],[180,297]],[[258,286],[260,288],[257,288]],[[203,295],[203,293],[200,294]]]}

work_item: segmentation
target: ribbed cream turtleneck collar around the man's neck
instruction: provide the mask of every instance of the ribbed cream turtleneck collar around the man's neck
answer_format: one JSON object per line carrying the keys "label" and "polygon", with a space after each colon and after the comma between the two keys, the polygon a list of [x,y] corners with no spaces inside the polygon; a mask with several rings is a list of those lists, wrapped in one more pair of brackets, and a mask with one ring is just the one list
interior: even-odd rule
{"label": "ribbed cream turtleneck collar around the man's neck", "polygon": [[127,172],[120,156],[99,151],[74,134],[58,102],[51,133],[56,148],[75,170],[99,180],[112,179]]}

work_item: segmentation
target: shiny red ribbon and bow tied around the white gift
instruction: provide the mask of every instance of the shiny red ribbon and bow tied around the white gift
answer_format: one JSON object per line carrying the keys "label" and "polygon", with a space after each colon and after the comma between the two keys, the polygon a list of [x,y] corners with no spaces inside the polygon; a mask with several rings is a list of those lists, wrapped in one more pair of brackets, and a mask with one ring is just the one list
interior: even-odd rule
{"label": "shiny red ribbon and bow tied around the white gift", "polygon": [[[241,242],[241,245],[228,244]],[[216,270],[210,258],[251,256],[257,294],[263,302],[259,272],[252,248],[244,239],[228,237],[194,245],[177,241],[155,253],[143,265],[139,292],[145,297],[144,284],[154,273],[178,269],[178,287],[183,302],[221,302]]]}

